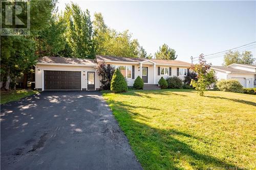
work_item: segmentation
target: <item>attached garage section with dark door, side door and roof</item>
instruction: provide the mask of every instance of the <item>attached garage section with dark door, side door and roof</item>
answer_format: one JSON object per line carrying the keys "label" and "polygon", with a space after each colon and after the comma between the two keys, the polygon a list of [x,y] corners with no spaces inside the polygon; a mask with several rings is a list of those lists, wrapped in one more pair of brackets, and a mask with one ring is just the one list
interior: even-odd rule
{"label": "attached garage section with dark door, side door and roof", "polygon": [[94,59],[41,57],[35,65],[38,90],[99,90]]}

